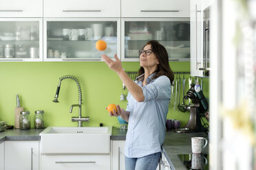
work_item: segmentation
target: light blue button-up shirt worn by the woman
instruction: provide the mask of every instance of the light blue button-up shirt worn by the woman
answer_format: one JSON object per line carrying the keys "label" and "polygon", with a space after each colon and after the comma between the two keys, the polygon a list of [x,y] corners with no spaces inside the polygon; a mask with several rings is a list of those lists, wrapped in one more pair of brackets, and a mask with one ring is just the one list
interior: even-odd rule
{"label": "light blue button-up shirt worn by the woman", "polygon": [[142,80],[136,83],[142,87],[145,101],[138,102],[129,93],[127,95],[127,111],[129,125],[125,141],[125,156],[140,158],[161,151],[165,136],[165,122],[171,98],[171,82],[162,75],[151,80],[156,73],[147,78],[147,84],[142,87]]}

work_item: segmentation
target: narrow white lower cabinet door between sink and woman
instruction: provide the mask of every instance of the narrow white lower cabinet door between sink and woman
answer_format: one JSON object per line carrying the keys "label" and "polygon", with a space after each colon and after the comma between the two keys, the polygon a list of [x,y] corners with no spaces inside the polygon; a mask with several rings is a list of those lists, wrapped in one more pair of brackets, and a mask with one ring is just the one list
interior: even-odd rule
{"label": "narrow white lower cabinet door between sink and woman", "polygon": [[125,170],[125,141],[112,141],[112,170]]}

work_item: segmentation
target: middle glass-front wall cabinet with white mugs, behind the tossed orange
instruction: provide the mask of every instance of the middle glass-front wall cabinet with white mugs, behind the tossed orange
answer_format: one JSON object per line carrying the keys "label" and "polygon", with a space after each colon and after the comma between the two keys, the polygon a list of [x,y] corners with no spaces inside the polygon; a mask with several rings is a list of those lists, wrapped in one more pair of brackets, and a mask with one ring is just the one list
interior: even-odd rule
{"label": "middle glass-front wall cabinet with white mugs, behind the tossed orange", "polygon": [[[120,19],[47,18],[44,21],[45,61],[97,61],[104,53],[120,57]],[[107,43],[105,51],[96,49],[101,39]]]}

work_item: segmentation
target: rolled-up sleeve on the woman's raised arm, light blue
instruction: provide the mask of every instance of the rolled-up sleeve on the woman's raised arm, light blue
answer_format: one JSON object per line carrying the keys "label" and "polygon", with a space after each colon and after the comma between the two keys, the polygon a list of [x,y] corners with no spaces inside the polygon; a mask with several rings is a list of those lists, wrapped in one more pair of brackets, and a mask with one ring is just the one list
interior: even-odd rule
{"label": "rolled-up sleeve on the woman's raised arm, light blue", "polygon": [[171,82],[165,75],[158,77],[151,84],[142,87],[144,101],[153,99],[170,99],[171,98]]}

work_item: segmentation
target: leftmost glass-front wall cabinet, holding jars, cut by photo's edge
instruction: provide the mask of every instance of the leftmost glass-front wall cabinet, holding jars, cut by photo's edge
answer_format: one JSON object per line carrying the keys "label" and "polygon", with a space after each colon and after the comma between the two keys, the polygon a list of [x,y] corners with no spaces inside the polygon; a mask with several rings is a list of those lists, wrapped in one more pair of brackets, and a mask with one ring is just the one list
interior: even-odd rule
{"label": "leftmost glass-front wall cabinet, holding jars, cut by photo's edge", "polygon": [[43,61],[43,21],[0,19],[0,61]]}

